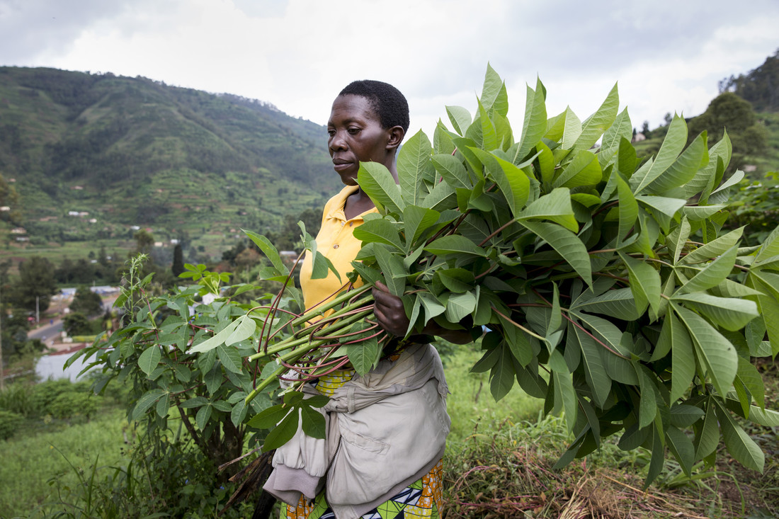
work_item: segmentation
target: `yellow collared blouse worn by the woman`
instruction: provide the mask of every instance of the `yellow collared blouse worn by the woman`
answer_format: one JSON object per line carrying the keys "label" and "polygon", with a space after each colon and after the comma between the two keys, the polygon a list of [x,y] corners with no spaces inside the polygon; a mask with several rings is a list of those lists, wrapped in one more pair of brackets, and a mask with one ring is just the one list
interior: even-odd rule
{"label": "yellow collared blouse worn by the woman", "polygon": [[330,271],[326,278],[312,280],[312,258],[307,253],[300,269],[300,286],[306,310],[330,300],[349,283],[346,274],[354,270],[351,262],[362,248],[362,242],[354,238],[352,231],[363,222],[365,214],[378,212],[374,207],[347,220],[344,214],[346,199],[358,189],[357,185],[347,185],[325,205],[322,227],[316,235],[316,248],[333,263],[340,274],[340,281]]}

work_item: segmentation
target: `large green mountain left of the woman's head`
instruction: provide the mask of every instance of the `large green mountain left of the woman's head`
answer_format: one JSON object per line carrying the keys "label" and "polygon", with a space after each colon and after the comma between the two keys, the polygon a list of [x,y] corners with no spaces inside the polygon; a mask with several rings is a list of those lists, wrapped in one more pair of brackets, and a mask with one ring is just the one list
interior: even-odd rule
{"label": "large green mountain left of the woman's head", "polygon": [[16,67],[0,67],[0,174],[33,245],[273,231],[340,185],[326,129],[271,104]]}

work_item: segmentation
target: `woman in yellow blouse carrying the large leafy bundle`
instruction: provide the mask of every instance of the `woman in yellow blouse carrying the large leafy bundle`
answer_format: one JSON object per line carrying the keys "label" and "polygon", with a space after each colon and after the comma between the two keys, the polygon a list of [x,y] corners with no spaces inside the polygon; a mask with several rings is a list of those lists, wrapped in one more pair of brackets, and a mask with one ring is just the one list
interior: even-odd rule
{"label": "woman in yellow blouse carrying the large leafy bundle", "polygon": [[[407,129],[406,99],[387,83],[355,81],[333,102],[328,148],[346,186],[326,204],[316,242],[341,279],[352,270],[351,261],[361,247],[354,228],[365,214],[376,211],[357,183],[359,163],[384,164],[397,181],[395,154]],[[343,288],[332,273],[324,280],[312,280],[311,274],[307,258],[300,276],[307,309]],[[403,336],[409,321],[400,298],[383,284],[376,284],[373,295],[379,325]],[[460,344],[471,341],[468,332],[435,323],[423,333]],[[284,501],[281,517],[438,517],[441,458],[449,433],[448,391],[438,353],[419,342],[424,337],[412,337],[365,376],[347,369],[306,388],[330,397],[323,408],[327,437],[316,440],[299,430],[274,455],[265,489]]]}

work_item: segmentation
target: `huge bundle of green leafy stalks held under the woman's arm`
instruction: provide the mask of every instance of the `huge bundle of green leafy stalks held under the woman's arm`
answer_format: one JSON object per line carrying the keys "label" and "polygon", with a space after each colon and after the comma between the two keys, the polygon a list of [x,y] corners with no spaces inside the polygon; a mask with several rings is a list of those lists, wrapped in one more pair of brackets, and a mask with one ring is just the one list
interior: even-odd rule
{"label": "huge bundle of green leafy stalks held under the woman's arm", "polygon": [[[387,341],[370,317],[368,288],[381,281],[404,302],[407,336],[430,321],[474,339],[485,330],[473,370],[490,372],[493,396],[516,381],[545,411],[564,411],[574,440],[559,466],[619,434],[623,449],[651,451],[647,485],[666,448],[689,473],[714,461],[721,438],[762,471],[763,453],[736,416],[779,425],[749,362],[779,352],[779,231],[743,248],[743,229],[725,227],[728,193],[743,178],[724,178],[728,136],[709,147],[704,132],[686,146],[676,116],[657,154],[640,158],[616,87],[583,122],[570,108],[548,117],[545,98],[540,81],[527,87],[515,136],[506,86],[488,67],[474,117],[447,107],[453,130],[439,122],[432,143],[418,132],[400,150],[398,185],[382,165],[361,164],[358,182],[379,209],[354,230],[363,248],[350,281],[365,284],[315,309],[335,309],[319,325],[305,327],[311,312],[280,311],[282,302],[301,308],[299,293],[270,242],[248,233],[284,297],[267,317],[249,311],[195,349],[258,338],[249,358],[278,364],[248,400],[289,370],[299,383],[346,359],[367,372]],[[326,277],[332,266],[303,231],[314,277]],[[323,404],[293,392],[249,423],[278,423],[266,440],[274,447],[298,416],[323,434],[310,412]]]}

